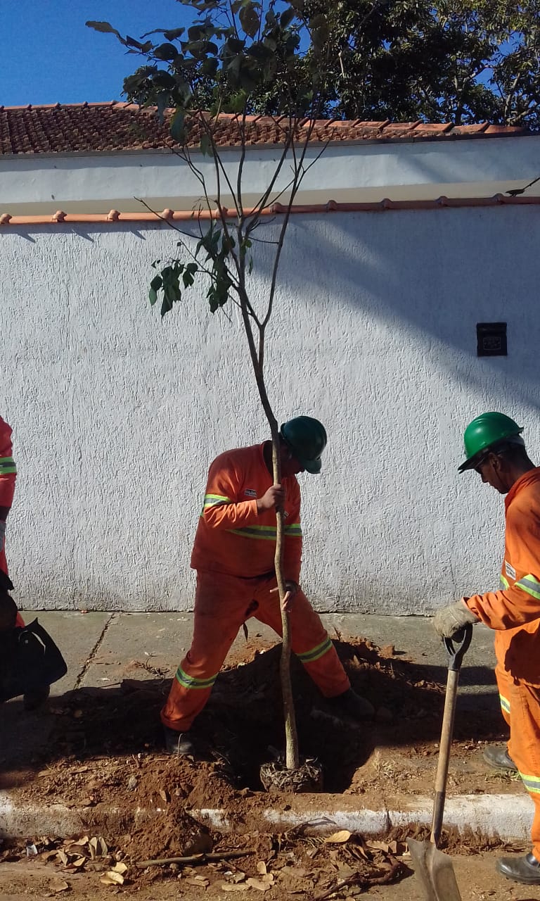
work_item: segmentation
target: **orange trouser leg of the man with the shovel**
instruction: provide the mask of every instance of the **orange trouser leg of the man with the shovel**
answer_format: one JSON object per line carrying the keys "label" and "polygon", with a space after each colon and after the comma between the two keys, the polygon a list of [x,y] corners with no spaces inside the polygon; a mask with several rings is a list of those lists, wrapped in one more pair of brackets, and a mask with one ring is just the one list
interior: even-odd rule
{"label": "orange trouser leg of the man with the shovel", "polygon": [[500,709],[510,727],[509,755],[535,802],[531,839],[533,854],[540,861],[540,687],[512,678],[500,663],[495,675]]}

